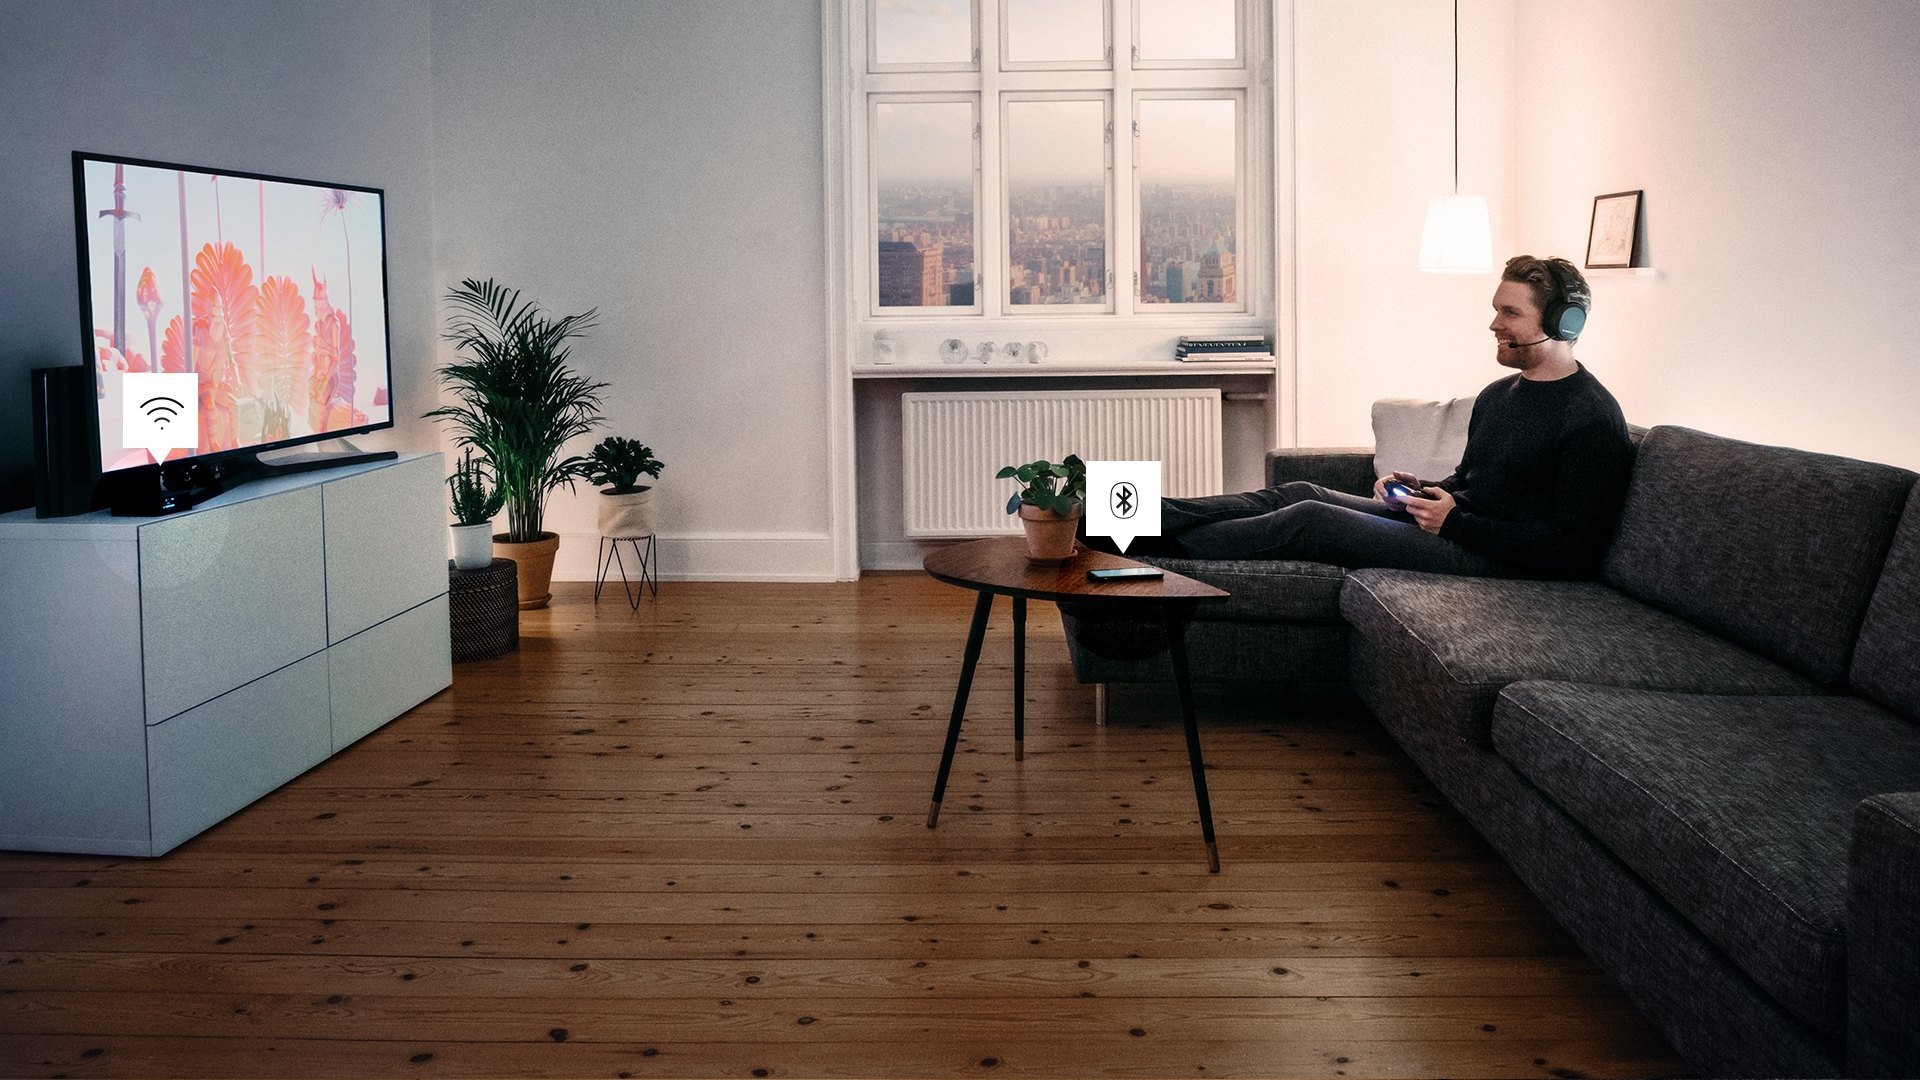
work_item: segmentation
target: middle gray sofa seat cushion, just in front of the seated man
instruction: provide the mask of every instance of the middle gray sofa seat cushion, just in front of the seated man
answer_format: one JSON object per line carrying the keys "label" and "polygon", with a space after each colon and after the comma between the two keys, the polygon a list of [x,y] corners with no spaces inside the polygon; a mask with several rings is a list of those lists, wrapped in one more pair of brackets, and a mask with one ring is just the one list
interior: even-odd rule
{"label": "middle gray sofa seat cushion, just in front of the seated man", "polygon": [[[1818,686],[1699,626],[1590,580],[1352,571],[1340,611],[1373,650],[1363,671],[1425,688],[1423,723],[1490,746],[1509,682],[1559,678],[1699,694],[1816,694]],[[1390,721],[1382,717],[1382,721]]]}

